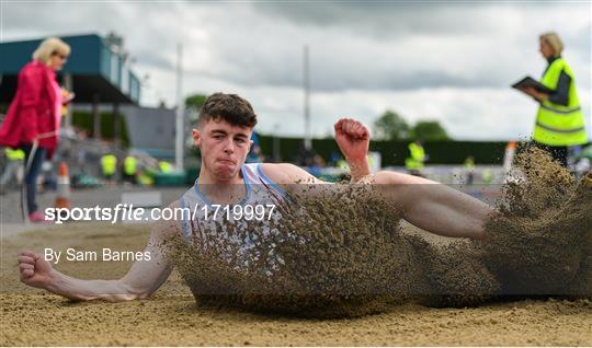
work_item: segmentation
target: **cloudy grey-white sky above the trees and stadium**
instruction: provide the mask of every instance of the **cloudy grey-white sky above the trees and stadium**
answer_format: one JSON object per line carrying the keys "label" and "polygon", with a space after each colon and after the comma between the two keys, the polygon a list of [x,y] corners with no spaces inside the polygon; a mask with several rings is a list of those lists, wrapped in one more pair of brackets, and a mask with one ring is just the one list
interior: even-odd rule
{"label": "cloudy grey-white sky above the trees and stadium", "polygon": [[590,1],[0,1],[3,42],[122,35],[133,70],[149,76],[145,105],[174,105],[182,43],[185,94],[238,93],[260,131],[292,136],[304,132],[308,45],[316,136],[340,116],[372,124],[390,108],[456,139],[525,138],[536,104],[509,85],[540,77],[538,35],[557,31],[591,128]]}

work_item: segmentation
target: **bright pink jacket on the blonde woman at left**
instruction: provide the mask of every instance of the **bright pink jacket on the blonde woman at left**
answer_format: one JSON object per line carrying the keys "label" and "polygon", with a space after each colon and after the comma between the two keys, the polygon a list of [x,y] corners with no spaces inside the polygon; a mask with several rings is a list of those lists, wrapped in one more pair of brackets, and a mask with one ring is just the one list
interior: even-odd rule
{"label": "bright pink jacket on the blonde woman at left", "polygon": [[0,127],[0,144],[15,148],[33,143],[48,150],[48,158],[57,147],[59,115],[56,103],[55,72],[39,61],[29,62],[19,73],[16,94]]}

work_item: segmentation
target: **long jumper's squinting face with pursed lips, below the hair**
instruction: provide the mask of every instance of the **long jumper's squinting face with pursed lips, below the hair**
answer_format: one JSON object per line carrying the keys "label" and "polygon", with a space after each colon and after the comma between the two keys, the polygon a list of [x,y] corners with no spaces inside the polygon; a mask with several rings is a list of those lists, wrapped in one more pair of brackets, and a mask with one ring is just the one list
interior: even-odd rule
{"label": "long jumper's squinting face with pursed lips, below the hair", "polygon": [[202,152],[202,165],[213,178],[231,181],[238,177],[251,148],[251,132],[252,128],[214,119],[193,129],[193,140]]}

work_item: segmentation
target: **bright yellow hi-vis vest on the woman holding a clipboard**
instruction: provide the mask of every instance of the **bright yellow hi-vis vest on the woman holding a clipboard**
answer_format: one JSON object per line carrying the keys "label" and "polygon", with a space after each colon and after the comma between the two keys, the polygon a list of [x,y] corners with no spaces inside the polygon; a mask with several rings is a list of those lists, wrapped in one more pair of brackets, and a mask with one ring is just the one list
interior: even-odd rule
{"label": "bright yellow hi-vis vest on the woman holding a clipboard", "polygon": [[561,71],[571,78],[568,105],[554,104],[549,101],[542,102],[536,115],[533,139],[555,147],[583,144],[588,142],[584,117],[576,91],[573,71],[563,58],[557,58],[551,62],[540,83],[556,90]]}

